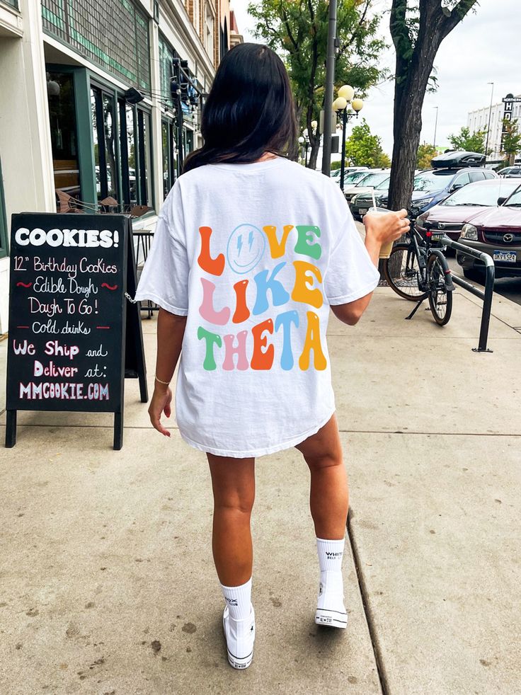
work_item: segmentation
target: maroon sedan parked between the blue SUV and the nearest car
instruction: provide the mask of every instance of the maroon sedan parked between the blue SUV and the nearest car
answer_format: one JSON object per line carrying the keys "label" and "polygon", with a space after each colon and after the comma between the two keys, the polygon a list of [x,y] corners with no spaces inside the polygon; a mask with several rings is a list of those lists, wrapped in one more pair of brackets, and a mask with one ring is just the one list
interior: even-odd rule
{"label": "maroon sedan parked between the blue SUV and the nearest car", "polygon": [[521,183],[515,179],[493,178],[469,183],[451,193],[438,205],[416,218],[416,229],[422,236],[431,229],[445,231],[453,241],[459,239],[463,225],[481,212],[483,207],[498,207]]}

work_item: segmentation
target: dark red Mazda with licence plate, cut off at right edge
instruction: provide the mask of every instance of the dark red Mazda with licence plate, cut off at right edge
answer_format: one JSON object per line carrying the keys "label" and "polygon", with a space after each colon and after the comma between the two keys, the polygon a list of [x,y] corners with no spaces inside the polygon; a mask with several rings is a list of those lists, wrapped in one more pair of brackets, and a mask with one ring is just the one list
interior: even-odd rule
{"label": "dark red Mazda with licence plate, cut off at right edge", "polygon": [[[521,186],[503,205],[483,210],[464,224],[459,243],[491,255],[496,277],[521,276]],[[463,251],[457,252],[456,260],[465,277],[482,275],[484,264],[480,260]]]}

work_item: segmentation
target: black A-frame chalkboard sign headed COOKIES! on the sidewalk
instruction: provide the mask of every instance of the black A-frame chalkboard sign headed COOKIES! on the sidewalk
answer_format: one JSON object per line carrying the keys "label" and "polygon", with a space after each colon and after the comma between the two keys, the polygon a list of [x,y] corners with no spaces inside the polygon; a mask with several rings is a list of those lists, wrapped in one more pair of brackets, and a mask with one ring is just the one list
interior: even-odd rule
{"label": "black A-frame chalkboard sign headed COOKIES! on the sidewalk", "polygon": [[115,413],[122,446],[127,375],[147,401],[132,226],[125,215],[15,214],[7,362],[6,446],[16,442],[17,410]]}

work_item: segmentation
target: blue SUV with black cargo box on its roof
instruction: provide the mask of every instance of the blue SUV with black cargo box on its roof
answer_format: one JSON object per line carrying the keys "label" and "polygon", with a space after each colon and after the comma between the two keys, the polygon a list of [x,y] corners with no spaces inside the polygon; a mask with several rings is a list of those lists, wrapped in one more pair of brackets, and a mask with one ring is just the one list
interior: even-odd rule
{"label": "blue SUV with black cargo box on its roof", "polygon": [[[489,178],[498,178],[491,169],[485,168],[442,168],[422,171],[414,178],[413,195],[409,217],[416,219],[431,207],[434,207],[447,195],[455,190],[463,188],[467,183],[483,181]],[[387,207],[388,197],[382,197],[382,207]]]}

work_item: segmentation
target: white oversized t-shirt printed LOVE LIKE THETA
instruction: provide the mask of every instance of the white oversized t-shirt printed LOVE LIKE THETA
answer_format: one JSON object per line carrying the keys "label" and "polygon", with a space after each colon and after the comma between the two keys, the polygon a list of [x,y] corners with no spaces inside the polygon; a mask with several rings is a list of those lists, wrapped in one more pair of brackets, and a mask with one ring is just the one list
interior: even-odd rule
{"label": "white oversized t-shirt printed LOVE LIKE THETA", "polygon": [[136,299],[188,317],[176,386],[183,439],[246,457],[317,432],[335,410],[329,305],[378,280],[343,193],[322,173],[277,157],[180,176]]}

